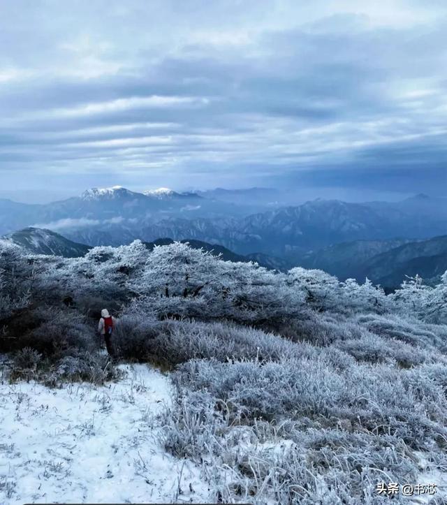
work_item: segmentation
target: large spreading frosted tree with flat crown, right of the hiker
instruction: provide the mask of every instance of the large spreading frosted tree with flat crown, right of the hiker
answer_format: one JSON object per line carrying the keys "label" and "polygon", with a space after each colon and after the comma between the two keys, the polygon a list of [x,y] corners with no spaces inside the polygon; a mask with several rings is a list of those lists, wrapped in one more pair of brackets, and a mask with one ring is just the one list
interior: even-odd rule
{"label": "large spreading frosted tree with flat crown, right of the hiker", "polygon": [[304,297],[275,274],[254,263],[222,261],[187,244],[155,247],[133,291],[160,314],[259,321],[297,314]]}

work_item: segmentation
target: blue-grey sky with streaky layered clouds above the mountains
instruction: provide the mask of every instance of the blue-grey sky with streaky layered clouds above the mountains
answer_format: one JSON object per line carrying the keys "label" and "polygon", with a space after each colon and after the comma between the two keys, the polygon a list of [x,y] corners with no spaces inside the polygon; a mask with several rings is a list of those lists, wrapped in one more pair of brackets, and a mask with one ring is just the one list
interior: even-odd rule
{"label": "blue-grey sky with streaky layered clouds above the mountains", "polygon": [[0,0],[0,196],[444,194],[446,29],[444,0]]}

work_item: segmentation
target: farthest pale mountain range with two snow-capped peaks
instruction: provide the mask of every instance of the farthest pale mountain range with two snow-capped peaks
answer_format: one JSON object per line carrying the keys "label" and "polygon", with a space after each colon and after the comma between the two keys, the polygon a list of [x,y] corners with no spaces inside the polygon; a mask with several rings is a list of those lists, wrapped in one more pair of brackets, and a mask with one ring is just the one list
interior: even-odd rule
{"label": "farthest pale mountain range with two snow-capped peaks", "polygon": [[[0,199],[0,234],[27,226],[55,231],[71,228],[111,230],[116,225],[135,229],[142,223],[169,217],[194,219],[246,215],[251,208],[207,200],[196,193],[177,193],[166,188],[137,193],[121,186],[89,189],[81,196],[47,204],[16,203]],[[127,235],[124,234],[127,238]],[[98,242],[98,240],[94,241]],[[115,237],[114,243],[117,242]],[[91,244],[93,245],[93,244]]]}

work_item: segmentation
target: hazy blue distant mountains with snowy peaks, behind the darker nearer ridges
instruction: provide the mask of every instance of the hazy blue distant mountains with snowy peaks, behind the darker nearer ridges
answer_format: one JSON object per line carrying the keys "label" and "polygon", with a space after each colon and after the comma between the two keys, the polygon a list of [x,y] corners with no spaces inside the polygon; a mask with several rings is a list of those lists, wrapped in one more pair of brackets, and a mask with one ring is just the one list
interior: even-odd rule
{"label": "hazy blue distant mountains with snowy peaks, behind the darker nearer ridges", "polygon": [[[250,195],[253,191],[241,190]],[[0,233],[47,228],[74,242],[118,245],[135,238],[203,240],[237,254],[253,252],[295,262],[303,253],[353,240],[429,238],[447,233],[447,200],[416,196],[400,203],[314,200],[249,214],[250,206],[212,193],[158,189],[137,193],[120,186],[90,189],[46,205],[0,200]],[[248,198],[248,197],[247,197]]]}

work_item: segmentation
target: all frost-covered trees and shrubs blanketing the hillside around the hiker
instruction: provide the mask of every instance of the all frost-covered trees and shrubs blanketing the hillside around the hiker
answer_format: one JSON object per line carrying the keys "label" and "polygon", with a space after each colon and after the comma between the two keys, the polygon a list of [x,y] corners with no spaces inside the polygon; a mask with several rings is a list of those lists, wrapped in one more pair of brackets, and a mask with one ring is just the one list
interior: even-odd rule
{"label": "all frost-covered trees and shrubs blanketing the hillside around the hiker", "polygon": [[112,379],[94,332],[108,307],[120,356],[173,372],[162,443],[203,464],[217,501],[381,504],[376,483],[445,471],[447,275],[386,295],[179,243],[73,259],[1,243],[0,258],[0,351],[55,380]]}

